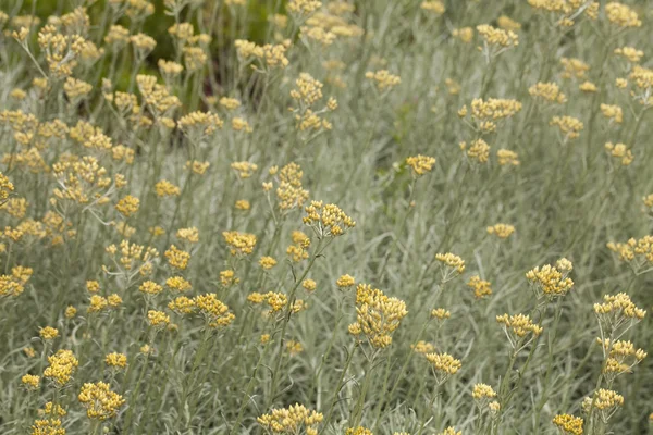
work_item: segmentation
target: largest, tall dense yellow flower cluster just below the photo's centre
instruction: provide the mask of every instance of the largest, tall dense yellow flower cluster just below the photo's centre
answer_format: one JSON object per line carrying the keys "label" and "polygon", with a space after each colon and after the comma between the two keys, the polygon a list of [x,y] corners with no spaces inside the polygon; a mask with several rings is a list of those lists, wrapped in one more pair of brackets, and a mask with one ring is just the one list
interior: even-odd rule
{"label": "largest, tall dense yellow flower cluster just below the photo's centre", "polygon": [[408,311],[403,300],[387,297],[369,284],[358,284],[356,323],[349,325],[349,333],[356,336],[364,334],[372,347],[385,348],[392,344],[392,334],[406,314]]}

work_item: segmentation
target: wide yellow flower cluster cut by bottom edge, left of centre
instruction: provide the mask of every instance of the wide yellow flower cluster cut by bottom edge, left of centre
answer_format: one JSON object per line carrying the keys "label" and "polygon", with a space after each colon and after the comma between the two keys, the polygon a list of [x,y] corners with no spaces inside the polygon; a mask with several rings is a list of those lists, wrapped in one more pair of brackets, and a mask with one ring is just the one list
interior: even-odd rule
{"label": "wide yellow flower cluster cut by bottom edge, left of centre", "polygon": [[271,413],[257,419],[258,423],[273,434],[299,434],[304,428],[306,435],[318,435],[317,426],[323,415],[306,408],[304,405],[291,405],[287,409],[273,409]]}

